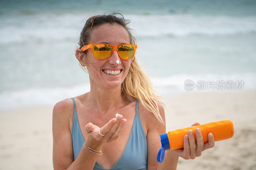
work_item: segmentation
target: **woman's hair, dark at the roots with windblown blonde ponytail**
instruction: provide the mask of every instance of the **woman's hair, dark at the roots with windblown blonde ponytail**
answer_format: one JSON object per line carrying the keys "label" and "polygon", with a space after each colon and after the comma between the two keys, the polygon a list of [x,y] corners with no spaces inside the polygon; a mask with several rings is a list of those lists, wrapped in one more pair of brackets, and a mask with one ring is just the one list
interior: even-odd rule
{"label": "woman's hair, dark at the roots with windblown blonde ponytail", "polygon": [[[84,28],[82,29],[80,33],[80,39],[78,42],[78,45],[80,48],[82,46],[85,46],[88,44],[90,40],[90,33],[93,29],[95,29],[97,26],[103,25],[103,24],[119,24],[123,26],[126,31],[128,32],[130,42],[132,44],[136,43],[136,39],[132,35],[133,30],[130,29],[127,25],[131,22],[130,20],[124,19],[123,15],[120,14],[122,17],[116,17],[116,14],[120,13],[112,13],[109,15],[96,15],[91,18],[89,18]],[[86,56],[86,51],[79,52],[82,53],[84,56]],[[79,60],[78,55],[76,53],[76,59]],[[79,60],[80,62],[83,62]],[[88,60],[85,60],[85,65],[91,64]],[[88,73],[87,69],[81,65],[79,62],[80,67]],[[92,67],[93,68],[93,67]],[[98,73],[99,74],[99,73]],[[157,102],[162,103],[164,106],[166,106],[161,100],[160,96],[157,95],[156,89],[154,88],[152,82],[149,80],[147,74],[144,70],[140,67],[138,61],[134,57],[131,61],[130,69],[127,73],[127,76],[125,77],[124,81],[121,85],[121,94],[123,97],[128,97],[129,100],[140,100],[142,105],[150,112],[152,112],[155,117],[162,123],[165,124],[164,120],[162,119]]]}

